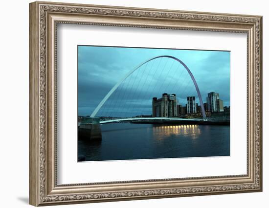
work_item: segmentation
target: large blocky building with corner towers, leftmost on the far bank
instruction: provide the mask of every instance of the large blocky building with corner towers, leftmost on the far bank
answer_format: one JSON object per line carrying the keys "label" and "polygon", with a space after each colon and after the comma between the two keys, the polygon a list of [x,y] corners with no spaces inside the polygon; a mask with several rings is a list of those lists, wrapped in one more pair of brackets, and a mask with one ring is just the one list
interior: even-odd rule
{"label": "large blocky building with corner towers, leftmost on the far bank", "polygon": [[162,94],[161,98],[152,98],[153,117],[174,117],[178,116],[176,94]]}

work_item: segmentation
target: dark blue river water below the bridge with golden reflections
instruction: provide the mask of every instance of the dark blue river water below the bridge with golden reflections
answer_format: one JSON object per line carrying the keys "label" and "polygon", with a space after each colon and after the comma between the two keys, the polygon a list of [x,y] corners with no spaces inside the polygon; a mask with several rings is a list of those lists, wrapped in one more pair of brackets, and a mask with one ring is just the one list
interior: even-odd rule
{"label": "dark blue river water below the bridge with golden reflections", "polygon": [[230,155],[230,127],[211,125],[101,125],[102,141],[79,141],[86,161]]}

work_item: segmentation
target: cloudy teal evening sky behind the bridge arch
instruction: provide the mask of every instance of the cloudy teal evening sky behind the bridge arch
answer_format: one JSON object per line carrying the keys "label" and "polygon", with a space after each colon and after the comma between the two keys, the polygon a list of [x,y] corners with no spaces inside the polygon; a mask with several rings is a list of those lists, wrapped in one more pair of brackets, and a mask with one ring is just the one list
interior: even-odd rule
{"label": "cloudy teal evening sky behind the bridge arch", "polygon": [[[203,102],[216,92],[230,105],[230,52],[78,46],[78,114],[90,115],[112,87],[139,64],[157,56],[173,56],[183,61],[195,77]],[[152,97],[176,94],[179,104],[187,96],[199,98],[184,67],[167,57],[140,66],[122,82],[97,116],[151,114]]]}

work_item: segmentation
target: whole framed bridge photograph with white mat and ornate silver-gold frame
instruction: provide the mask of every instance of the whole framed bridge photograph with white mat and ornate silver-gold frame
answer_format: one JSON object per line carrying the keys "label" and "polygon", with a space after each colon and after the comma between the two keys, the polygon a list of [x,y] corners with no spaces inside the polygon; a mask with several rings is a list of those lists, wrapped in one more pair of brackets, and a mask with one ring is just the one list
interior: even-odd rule
{"label": "whole framed bridge photograph with white mat and ornate silver-gold frame", "polygon": [[261,16],[33,2],[29,25],[31,205],[262,191]]}

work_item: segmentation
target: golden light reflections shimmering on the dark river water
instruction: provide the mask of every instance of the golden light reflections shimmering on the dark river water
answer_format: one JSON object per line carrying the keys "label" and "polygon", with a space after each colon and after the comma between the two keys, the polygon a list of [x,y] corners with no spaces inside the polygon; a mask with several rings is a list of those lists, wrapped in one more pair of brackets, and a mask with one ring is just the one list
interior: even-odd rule
{"label": "golden light reflections shimmering on the dark river water", "polygon": [[163,140],[166,137],[177,135],[175,138],[189,136],[197,139],[201,134],[199,125],[171,125],[171,126],[153,126],[153,136],[157,140]]}

